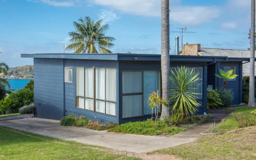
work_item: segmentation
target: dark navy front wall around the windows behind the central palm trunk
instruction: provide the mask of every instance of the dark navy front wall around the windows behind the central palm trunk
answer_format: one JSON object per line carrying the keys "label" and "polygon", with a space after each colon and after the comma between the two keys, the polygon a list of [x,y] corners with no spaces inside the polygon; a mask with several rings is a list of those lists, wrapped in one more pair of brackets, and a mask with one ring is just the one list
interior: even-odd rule
{"label": "dark navy front wall around the windows behind the central palm trunk", "polygon": [[[126,123],[126,122],[134,122],[134,121],[142,121],[146,120],[148,118],[151,118],[151,116],[142,116],[142,117],[134,117],[134,118],[123,118],[122,119],[122,71],[140,71],[140,70],[161,70],[161,62],[159,61],[119,61],[119,70],[118,70],[118,76],[119,76],[119,122],[120,123]],[[175,68],[177,66],[187,66],[187,67],[196,67],[196,68],[202,68],[202,98],[198,99],[198,101],[201,103],[201,106],[198,108],[197,114],[204,114],[206,112],[206,89],[207,89],[207,62],[170,62],[170,68]]]}

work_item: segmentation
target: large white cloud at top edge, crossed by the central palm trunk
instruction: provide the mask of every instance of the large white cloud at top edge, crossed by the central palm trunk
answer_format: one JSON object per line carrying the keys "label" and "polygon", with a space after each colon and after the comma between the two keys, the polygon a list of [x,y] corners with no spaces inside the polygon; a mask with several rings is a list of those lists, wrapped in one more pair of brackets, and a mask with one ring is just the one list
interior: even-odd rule
{"label": "large white cloud at top edge, crossed by the central palm trunk", "polygon": [[[92,0],[94,4],[108,6],[120,12],[139,16],[161,16],[159,0]],[[170,2],[170,20],[184,25],[199,25],[217,18],[220,9],[212,6],[182,6],[180,0]]]}

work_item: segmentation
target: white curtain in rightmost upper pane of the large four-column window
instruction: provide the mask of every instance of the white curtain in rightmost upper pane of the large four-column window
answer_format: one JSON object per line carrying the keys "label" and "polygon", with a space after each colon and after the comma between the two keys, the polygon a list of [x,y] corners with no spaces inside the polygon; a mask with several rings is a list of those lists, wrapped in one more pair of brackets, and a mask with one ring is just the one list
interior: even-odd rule
{"label": "white curtain in rightmost upper pane of the large four-column window", "polygon": [[106,100],[116,102],[116,68],[106,68]]}

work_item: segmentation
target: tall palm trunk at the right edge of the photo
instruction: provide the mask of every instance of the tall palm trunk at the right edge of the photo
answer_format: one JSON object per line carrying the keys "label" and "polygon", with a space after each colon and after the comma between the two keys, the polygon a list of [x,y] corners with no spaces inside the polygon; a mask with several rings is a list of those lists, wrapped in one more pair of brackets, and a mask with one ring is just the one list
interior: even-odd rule
{"label": "tall palm trunk at the right edge of the photo", "polygon": [[254,96],[254,62],[255,62],[255,0],[252,0],[252,22],[251,22],[251,49],[250,49],[250,82],[249,82],[249,103],[248,107],[254,108],[255,96]]}

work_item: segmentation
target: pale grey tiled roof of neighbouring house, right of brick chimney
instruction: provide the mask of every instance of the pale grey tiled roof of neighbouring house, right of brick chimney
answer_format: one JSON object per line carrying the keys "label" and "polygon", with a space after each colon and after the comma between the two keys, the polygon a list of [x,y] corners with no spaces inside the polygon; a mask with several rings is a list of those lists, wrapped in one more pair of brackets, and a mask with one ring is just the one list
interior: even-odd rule
{"label": "pale grey tiled roof of neighbouring house, right of brick chimney", "polygon": [[[236,58],[250,58],[250,50],[230,50],[220,48],[201,48],[200,54],[203,56],[227,56]],[[256,64],[255,64],[256,70]],[[250,62],[243,64],[243,77],[250,76]],[[256,76],[256,72],[255,72]]]}

